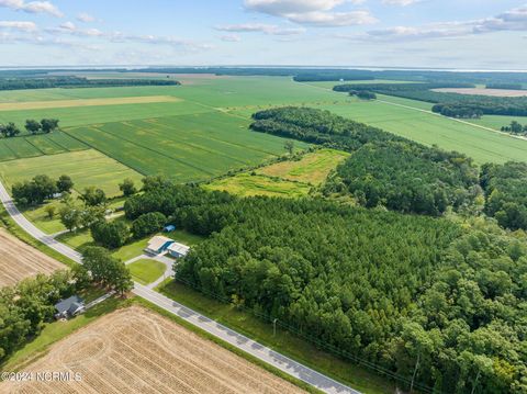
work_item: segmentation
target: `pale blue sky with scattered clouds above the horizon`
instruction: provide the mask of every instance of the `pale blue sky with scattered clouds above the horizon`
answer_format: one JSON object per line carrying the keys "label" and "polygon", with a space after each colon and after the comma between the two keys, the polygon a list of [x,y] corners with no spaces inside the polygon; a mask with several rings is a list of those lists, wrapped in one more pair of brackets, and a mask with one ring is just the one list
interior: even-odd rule
{"label": "pale blue sky with scattered clouds above the horizon", "polygon": [[527,0],[0,0],[0,67],[527,69]]}

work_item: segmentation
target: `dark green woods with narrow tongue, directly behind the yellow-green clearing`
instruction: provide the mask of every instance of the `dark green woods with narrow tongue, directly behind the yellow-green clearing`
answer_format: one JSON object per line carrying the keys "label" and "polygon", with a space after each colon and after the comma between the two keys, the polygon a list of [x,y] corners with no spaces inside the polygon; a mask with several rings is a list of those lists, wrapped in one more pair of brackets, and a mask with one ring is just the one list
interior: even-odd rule
{"label": "dark green woods with narrow tongue, directly behind the yellow-green clearing", "polygon": [[326,194],[349,192],[368,207],[440,215],[468,209],[481,194],[478,169],[458,153],[425,147],[327,111],[280,108],[257,112],[251,130],[354,153]]}

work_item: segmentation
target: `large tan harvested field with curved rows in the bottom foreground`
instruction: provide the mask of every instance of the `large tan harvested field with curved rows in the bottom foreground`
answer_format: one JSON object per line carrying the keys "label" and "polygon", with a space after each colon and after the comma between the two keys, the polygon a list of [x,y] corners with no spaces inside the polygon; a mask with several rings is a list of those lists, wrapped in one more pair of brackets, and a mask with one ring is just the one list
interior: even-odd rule
{"label": "large tan harvested field with curved rows in the bottom foreground", "polygon": [[99,318],[54,345],[27,372],[79,382],[3,382],[1,393],[301,393],[289,382],[139,307]]}

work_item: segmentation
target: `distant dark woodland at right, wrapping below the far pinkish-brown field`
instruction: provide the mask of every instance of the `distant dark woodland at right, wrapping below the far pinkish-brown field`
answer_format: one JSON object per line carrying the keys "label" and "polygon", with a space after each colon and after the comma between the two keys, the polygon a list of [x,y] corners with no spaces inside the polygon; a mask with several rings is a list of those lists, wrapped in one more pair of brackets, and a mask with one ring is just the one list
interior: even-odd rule
{"label": "distant dark woodland at right, wrapping below the far pinkish-brown field", "polygon": [[504,98],[491,95],[437,92],[440,88],[473,88],[470,83],[365,83],[337,85],[339,92],[373,91],[405,99],[434,103],[433,111],[452,117],[486,115],[527,116],[527,97]]}

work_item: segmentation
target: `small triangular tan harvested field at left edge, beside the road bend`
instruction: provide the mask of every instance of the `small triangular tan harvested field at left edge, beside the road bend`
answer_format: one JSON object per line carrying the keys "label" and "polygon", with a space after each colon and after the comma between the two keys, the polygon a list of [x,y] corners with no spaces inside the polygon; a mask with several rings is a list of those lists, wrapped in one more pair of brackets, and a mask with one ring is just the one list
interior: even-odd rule
{"label": "small triangular tan harvested field at left edge, beside the road bend", "polygon": [[10,286],[37,273],[52,273],[65,268],[57,260],[0,228],[0,288]]}

